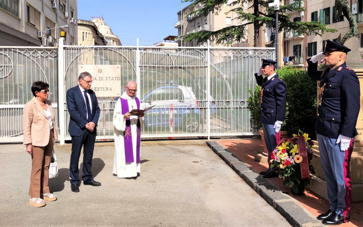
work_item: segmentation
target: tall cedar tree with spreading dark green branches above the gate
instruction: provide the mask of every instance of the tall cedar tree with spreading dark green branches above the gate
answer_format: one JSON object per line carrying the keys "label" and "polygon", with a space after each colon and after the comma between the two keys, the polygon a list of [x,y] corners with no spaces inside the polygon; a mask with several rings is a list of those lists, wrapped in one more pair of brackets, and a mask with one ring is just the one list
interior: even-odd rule
{"label": "tall cedar tree with spreading dark green branches above the gate", "polygon": [[[253,9],[253,13],[248,13],[248,10],[243,7],[245,2],[248,1],[248,10]],[[192,13],[201,13],[204,16],[207,16],[209,12],[212,12],[216,15],[220,12],[220,9],[227,4],[227,0],[184,0],[184,2],[193,2],[190,6],[197,5],[201,3],[204,5],[200,9],[191,12]],[[270,26],[271,20],[275,18],[275,12],[273,7],[269,7],[269,2],[273,2],[272,0],[264,1],[264,0],[238,0],[232,1],[231,9],[228,12],[237,13],[238,16],[234,18],[234,20],[245,21],[247,23],[243,23],[241,25],[232,25],[225,28],[222,28],[218,31],[200,31],[188,34],[183,37],[185,42],[191,42],[193,39],[196,39],[197,42],[206,42],[208,39],[215,41],[217,44],[227,44],[230,45],[233,42],[237,42],[241,38],[245,38],[248,33],[247,25],[253,24],[254,31],[254,47],[260,47],[260,28],[266,24],[267,27]],[[280,1],[281,3],[283,1]],[[252,3],[252,4],[251,4]],[[280,5],[280,10],[278,11],[278,31],[296,31],[300,34],[307,35],[319,35],[322,36],[325,32],[336,32],[335,29],[329,29],[326,27],[326,24],[323,24],[322,21],[314,21],[314,22],[302,22],[302,21],[290,21],[289,15],[286,15],[286,11],[305,11],[304,7],[300,7],[301,0],[296,0],[293,3]],[[261,12],[261,9],[265,9],[264,12]],[[227,13],[228,13],[227,12]],[[189,15],[190,15],[189,14]],[[305,15],[306,17],[309,15]]]}

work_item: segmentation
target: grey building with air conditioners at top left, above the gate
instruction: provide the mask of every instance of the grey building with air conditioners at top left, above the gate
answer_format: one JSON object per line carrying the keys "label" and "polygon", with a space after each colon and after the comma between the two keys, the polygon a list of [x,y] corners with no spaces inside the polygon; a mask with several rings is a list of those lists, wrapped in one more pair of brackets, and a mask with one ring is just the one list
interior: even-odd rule
{"label": "grey building with air conditioners at top left, above the gate", "polygon": [[77,45],[77,0],[0,0],[0,18],[1,46]]}

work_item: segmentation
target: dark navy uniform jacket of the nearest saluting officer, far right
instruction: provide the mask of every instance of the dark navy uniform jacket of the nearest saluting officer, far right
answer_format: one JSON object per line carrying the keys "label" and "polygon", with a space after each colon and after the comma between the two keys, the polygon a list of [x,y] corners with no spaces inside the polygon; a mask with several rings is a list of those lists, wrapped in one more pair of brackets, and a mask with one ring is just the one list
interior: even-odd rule
{"label": "dark navy uniform jacket of the nearest saluting officer, far right", "polygon": [[[329,138],[338,138],[339,134],[353,138],[358,133],[356,123],[360,109],[359,80],[354,70],[342,65],[330,71],[327,68],[322,75],[318,63],[307,60],[307,74],[320,81],[324,86],[319,104],[316,132]],[[329,72],[330,71],[330,72]]]}

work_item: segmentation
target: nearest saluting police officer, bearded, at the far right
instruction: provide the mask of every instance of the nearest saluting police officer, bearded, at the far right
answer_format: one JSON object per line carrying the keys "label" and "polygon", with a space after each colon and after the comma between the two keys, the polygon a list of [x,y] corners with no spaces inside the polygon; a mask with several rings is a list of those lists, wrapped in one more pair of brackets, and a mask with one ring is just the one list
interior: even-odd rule
{"label": "nearest saluting police officer, bearded, at the far right", "polygon": [[[354,70],[346,67],[349,51],[346,46],[328,40],[324,52],[307,59],[309,77],[320,81],[316,132],[330,207],[317,219],[326,225],[350,220],[350,156],[358,134],[355,126],[360,88]],[[323,72],[317,69],[317,62],[322,59],[327,66]]]}

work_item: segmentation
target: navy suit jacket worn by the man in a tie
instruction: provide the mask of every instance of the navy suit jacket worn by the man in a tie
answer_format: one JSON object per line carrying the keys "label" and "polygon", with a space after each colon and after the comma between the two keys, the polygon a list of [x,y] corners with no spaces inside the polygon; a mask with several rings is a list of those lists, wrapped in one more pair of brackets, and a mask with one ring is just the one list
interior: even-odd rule
{"label": "navy suit jacket worn by the man in a tie", "polygon": [[[97,133],[97,123],[101,109],[99,109],[96,94],[93,90],[88,89],[92,102],[92,122],[96,124],[94,132]],[[79,86],[68,89],[67,91],[67,109],[70,115],[68,132],[70,135],[79,136],[83,130],[86,130],[87,108],[85,99],[82,96]]]}

